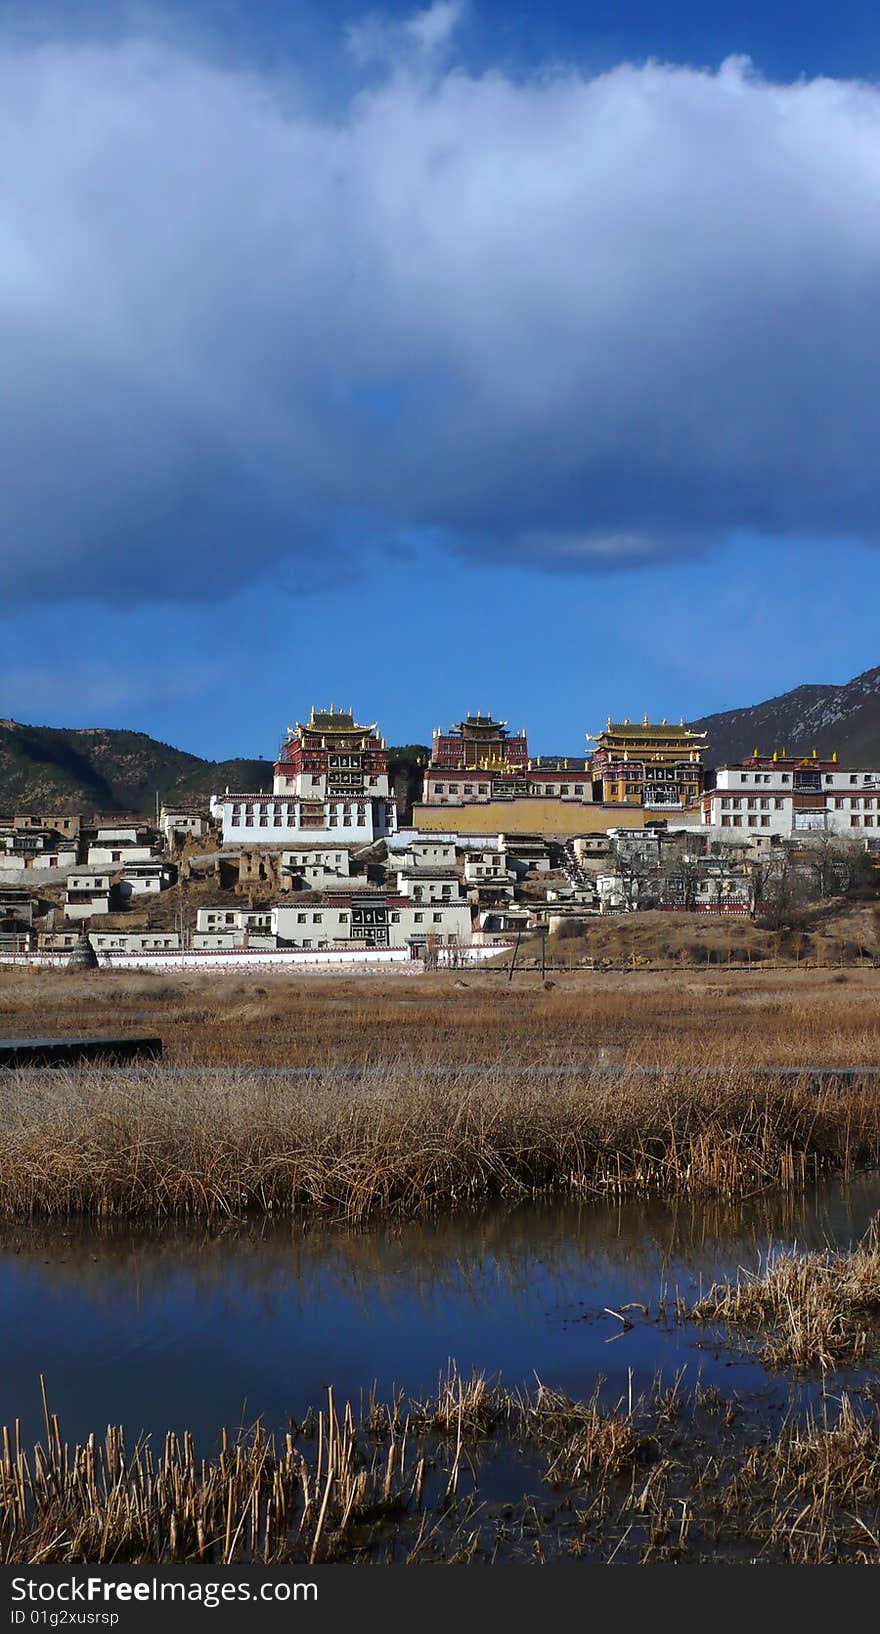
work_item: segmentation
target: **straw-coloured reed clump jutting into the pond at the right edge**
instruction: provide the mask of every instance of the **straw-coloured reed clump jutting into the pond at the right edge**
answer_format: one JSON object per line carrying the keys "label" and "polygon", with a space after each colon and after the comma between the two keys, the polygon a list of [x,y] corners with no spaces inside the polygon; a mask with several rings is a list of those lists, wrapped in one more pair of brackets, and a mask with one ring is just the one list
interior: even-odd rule
{"label": "straw-coloured reed clump jutting into the pond at the right edge", "polygon": [[859,1366],[878,1338],[877,1227],[851,1253],[772,1253],[759,1275],[715,1284],[687,1314],[764,1332],[759,1351],[772,1368]]}

